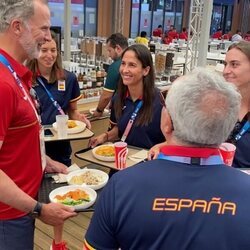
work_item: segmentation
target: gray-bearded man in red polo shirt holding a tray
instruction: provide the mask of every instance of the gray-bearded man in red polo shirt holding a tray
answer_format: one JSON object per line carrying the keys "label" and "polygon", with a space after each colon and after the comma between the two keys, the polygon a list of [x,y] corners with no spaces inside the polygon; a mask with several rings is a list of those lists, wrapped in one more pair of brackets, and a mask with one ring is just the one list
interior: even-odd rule
{"label": "gray-bearded man in red polo shirt holding a tray", "polygon": [[[31,72],[22,65],[51,39],[50,11],[42,0],[0,1],[0,249],[33,249],[34,218],[62,224],[72,209],[35,200],[44,169],[65,166],[44,155]],[[29,216],[28,214],[32,215]]]}

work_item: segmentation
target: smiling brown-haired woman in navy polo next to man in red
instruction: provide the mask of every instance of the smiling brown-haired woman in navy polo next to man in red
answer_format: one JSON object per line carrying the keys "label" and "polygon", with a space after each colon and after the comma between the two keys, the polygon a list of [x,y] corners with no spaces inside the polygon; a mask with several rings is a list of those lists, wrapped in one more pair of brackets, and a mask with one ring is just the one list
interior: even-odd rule
{"label": "smiling brown-haired woman in navy polo next to man in red", "polygon": [[[41,46],[39,58],[27,65],[33,72],[33,88],[41,104],[42,124],[53,124],[56,115],[60,114],[60,110],[52,103],[48,90],[63,112],[69,115],[69,119],[83,121],[89,127],[89,121],[77,110],[77,101],[81,99],[81,94],[76,76],[62,68],[56,34],[51,32],[51,36],[52,40]],[[72,150],[69,141],[47,142],[45,147],[47,155],[53,160],[71,165]]]}

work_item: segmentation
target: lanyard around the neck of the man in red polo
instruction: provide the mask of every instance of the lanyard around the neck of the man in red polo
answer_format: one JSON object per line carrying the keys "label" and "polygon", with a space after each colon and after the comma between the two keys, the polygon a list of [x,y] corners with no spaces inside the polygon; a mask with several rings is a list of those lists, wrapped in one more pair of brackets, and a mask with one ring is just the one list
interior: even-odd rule
{"label": "lanyard around the neck of the man in red polo", "polygon": [[21,82],[21,80],[19,79],[19,77],[17,76],[17,73],[14,71],[14,69],[11,67],[9,61],[3,56],[0,54],[0,62],[2,62],[7,68],[8,70],[10,71],[10,73],[13,75],[15,81],[16,81],[16,84],[18,85],[18,87],[21,89],[21,91],[23,92],[23,99],[28,101],[29,104],[31,105],[32,109],[34,110],[35,112],[35,115],[36,115],[36,118],[37,120],[40,122],[40,118],[39,118],[39,115],[37,113],[37,110],[33,104],[33,102],[31,101],[30,99],[30,96],[27,94],[25,88],[23,87],[23,84]]}

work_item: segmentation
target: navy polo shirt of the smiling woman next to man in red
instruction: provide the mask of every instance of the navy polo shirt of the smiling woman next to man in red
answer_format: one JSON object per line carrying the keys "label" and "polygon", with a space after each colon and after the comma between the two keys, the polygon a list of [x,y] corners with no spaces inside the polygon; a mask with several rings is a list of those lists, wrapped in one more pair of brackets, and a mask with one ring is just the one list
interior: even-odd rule
{"label": "navy polo shirt of the smiling woman next to man in red", "polygon": [[[44,77],[41,76],[41,79],[46,88],[52,94],[53,98],[59,103],[65,113],[67,113],[70,102],[76,101],[81,98],[79,84],[77,82],[76,76],[69,71],[65,70],[66,80],[64,90],[59,90],[60,88],[58,88],[58,81],[56,81],[55,83],[48,83],[48,81]],[[34,89],[41,103],[42,124],[47,125],[54,123],[56,121],[56,115],[59,114],[58,110],[52,104],[52,101],[50,100],[43,86],[37,84]]]}

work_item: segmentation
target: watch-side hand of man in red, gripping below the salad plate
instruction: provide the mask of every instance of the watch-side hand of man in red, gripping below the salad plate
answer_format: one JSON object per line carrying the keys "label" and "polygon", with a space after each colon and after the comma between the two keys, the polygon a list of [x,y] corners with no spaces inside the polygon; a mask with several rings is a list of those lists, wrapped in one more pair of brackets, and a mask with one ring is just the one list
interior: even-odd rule
{"label": "watch-side hand of man in red, gripping below the salad plate", "polygon": [[76,215],[77,213],[74,212],[74,208],[72,207],[59,203],[49,203],[43,204],[39,219],[46,224],[57,226],[63,224],[66,219]]}

